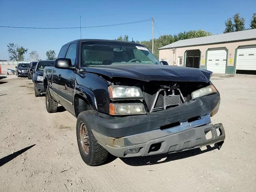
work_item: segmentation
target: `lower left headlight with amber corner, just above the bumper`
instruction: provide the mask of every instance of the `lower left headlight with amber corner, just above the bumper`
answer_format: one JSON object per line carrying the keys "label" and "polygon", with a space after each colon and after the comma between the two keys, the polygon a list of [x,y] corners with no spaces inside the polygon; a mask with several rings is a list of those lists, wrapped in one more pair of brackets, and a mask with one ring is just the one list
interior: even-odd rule
{"label": "lower left headlight with amber corner, just above the bumper", "polygon": [[138,115],[146,114],[146,110],[142,103],[124,103],[124,104],[109,104],[110,115]]}

